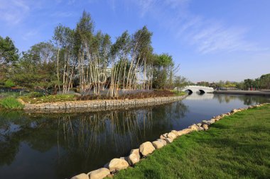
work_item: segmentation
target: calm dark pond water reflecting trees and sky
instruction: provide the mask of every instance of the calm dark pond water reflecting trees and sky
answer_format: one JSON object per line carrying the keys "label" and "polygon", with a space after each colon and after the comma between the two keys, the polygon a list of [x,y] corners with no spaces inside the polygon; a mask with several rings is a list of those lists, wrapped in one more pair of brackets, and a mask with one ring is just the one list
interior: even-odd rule
{"label": "calm dark pond water reflecting trees and sky", "polygon": [[183,101],[106,112],[0,113],[0,178],[70,178],[126,156],[171,129],[269,102],[256,96],[193,93]]}

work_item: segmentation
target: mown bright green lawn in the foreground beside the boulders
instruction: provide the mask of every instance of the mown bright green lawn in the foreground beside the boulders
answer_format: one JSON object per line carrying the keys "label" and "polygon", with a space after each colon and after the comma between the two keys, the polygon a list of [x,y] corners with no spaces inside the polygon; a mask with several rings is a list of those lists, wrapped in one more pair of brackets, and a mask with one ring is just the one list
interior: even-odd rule
{"label": "mown bright green lawn in the foreground beside the boulders", "polygon": [[224,117],[120,171],[115,178],[269,178],[270,105]]}

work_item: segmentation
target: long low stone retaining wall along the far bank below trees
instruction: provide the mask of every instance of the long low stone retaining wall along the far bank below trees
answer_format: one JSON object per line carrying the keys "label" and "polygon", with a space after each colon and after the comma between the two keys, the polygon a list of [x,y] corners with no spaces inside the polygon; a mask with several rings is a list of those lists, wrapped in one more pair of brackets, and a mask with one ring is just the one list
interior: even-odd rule
{"label": "long low stone retaining wall along the far bank below trees", "polygon": [[40,103],[30,104],[23,100],[20,102],[24,105],[23,110],[27,112],[94,112],[101,110],[114,110],[119,108],[136,108],[148,105],[159,105],[164,103],[171,103],[178,100],[183,100],[188,94],[184,96],[170,96],[157,98],[143,98],[143,99],[126,99],[126,100],[77,100],[66,101],[58,103]]}

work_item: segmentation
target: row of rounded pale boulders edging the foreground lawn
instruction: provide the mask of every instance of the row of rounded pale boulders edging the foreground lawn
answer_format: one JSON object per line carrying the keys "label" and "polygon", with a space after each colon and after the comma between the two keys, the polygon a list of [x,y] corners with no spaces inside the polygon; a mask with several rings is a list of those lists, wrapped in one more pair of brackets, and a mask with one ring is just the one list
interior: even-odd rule
{"label": "row of rounded pale boulders edging the foreground lawn", "polygon": [[231,112],[227,112],[225,114],[217,115],[212,117],[211,120],[202,120],[201,123],[197,125],[193,124],[190,125],[186,129],[182,129],[180,131],[172,130],[166,134],[161,134],[160,138],[154,142],[144,142],[139,146],[139,149],[132,149],[130,151],[129,156],[121,157],[121,158],[114,158],[109,163],[105,164],[104,168],[99,168],[95,171],[90,171],[89,173],[81,173],[80,175],[75,175],[71,179],[100,179],[105,177],[113,177],[118,171],[124,170],[126,168],[134,166],[135,163],[138,163],[141,159],[145,158],[146,156],[153,153],[153,151],[157,149],[161,149],[163,146],[167,144],[171,144],[174,139],[180,137],[185,134],[189,134],[193,131],[204,131],[209,129],[210,125],[214,124],[215,122],[222,120],[223,117],[232,115],[236,112],[247,110],[250,108],[257,108],[262,105],[266,105],[269,103],[264,103],[261,105],[250,105],[247,108],[239,108],[233,109]]}

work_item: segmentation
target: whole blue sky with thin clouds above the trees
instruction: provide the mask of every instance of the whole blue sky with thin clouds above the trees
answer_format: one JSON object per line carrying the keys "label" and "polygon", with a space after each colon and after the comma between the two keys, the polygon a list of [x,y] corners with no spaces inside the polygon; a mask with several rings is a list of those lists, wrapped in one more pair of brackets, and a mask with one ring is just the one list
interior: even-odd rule
{"label": "whole blue sky with thin clouds above the trees", "polygon": [[75,28],[85,10],[111,35],[153,32],[190,81],[242,81],[270,73],[269,0],[0,0],[0,35],[26,51],[59,23]]}

